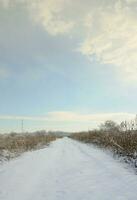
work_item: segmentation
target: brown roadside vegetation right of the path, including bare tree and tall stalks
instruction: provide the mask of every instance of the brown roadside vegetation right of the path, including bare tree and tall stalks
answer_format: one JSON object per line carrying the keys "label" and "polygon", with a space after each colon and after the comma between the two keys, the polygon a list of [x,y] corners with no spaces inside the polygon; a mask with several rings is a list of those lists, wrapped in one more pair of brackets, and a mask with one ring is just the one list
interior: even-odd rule
{"label": "brown roadside vegetation right of the path, including bare tree and tall stalks", "polygon": [[74,133],[70,137],[84,143],[92,143],[100,148],[108,149],[114,156],[137,167],[137,124],[136,120],[122,122],[113,121],[101,124],[98,130]]}

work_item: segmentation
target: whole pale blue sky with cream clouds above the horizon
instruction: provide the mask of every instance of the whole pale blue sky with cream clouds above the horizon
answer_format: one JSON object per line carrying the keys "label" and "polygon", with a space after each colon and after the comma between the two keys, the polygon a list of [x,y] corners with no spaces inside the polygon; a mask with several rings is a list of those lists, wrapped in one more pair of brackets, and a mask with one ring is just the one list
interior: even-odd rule
{"label": "whole pale blue sky with cream clouds above the horizon", "polygon": [[0,0],[0,132],[97,128],[137,101],[137,0]]}

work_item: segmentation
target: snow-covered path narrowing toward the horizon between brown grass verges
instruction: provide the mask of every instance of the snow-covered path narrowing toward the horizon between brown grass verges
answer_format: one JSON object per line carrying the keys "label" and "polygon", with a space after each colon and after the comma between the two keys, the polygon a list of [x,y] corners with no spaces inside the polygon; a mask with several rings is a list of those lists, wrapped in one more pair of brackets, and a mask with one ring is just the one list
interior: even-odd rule
{"label": "snow-covered path narrowing toward the horizon between brown grass verges", "polygon": [[0,166],[0,200],[110,199],[136,200],[137,176],[68,138]]}

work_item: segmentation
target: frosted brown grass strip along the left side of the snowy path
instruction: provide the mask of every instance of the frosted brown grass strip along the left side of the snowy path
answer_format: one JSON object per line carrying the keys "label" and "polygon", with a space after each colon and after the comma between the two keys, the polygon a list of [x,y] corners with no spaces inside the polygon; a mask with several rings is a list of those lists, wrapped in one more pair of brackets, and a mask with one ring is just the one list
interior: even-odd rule
{"label": "frosted brown grass strip along the left side of the snowy path", "polygon": [[17,157],[26,151],[40,149],[56,139],[57,136],[54,133],[45,131],[0,134],[0,161]]}

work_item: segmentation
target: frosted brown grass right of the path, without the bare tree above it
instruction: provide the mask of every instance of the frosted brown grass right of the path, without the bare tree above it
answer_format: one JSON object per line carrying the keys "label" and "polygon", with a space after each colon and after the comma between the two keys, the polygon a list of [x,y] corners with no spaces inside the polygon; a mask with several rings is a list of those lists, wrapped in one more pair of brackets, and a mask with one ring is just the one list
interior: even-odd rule
{"label": "frosted brown grass right of the path, without the bare tree above it", "polygon": [[75,133],[71,138],[109,149],[114,155],[122,157],[125,162],[137,167],[137,131],[88,131]]}

